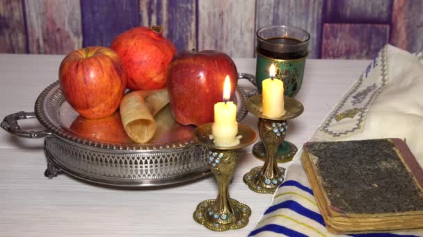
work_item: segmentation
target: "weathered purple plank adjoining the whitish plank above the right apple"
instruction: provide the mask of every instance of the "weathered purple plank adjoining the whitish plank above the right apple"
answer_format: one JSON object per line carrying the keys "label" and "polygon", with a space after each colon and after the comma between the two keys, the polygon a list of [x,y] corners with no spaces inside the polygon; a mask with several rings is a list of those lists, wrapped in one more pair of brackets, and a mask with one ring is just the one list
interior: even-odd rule
{"label": "weathered purple plank adjoining the whitish plank above the right apple", "polygon": [[197,48],[195,12],[195,0],[140,0],[141,26],[163,26],[178,51]]}

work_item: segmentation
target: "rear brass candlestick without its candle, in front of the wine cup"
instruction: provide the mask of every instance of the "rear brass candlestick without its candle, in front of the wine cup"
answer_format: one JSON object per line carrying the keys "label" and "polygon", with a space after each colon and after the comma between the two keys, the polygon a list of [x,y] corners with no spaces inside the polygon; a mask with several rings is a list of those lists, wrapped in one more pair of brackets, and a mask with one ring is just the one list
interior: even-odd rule
{"label": "rear brass candlestick without its candle, in front of the wine cup", "polygon": [[256,193],[274,193],[283,182],[285,169],[278,167],[276,161],[278,148],[285,139],[287,120],[294,119],[304,111],[303,105],[294,98],[285,96],[285,115],[269,118],[262,112],[262,95],[253,96],[246,101],[246,109],[259,118],[260,139],[266,149],[264,166],[258,166],[244,175],[244,182]]}

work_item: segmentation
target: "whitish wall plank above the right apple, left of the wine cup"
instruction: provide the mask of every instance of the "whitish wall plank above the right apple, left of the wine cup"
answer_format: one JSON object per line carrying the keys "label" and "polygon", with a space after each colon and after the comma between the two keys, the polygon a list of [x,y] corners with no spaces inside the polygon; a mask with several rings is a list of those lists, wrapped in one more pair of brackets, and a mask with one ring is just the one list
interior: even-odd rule
{"label": "whitish wall plank above the right apple, left of the wine cup", "polygon": [[255,0],[198,1],[198,49],[253,57]]}

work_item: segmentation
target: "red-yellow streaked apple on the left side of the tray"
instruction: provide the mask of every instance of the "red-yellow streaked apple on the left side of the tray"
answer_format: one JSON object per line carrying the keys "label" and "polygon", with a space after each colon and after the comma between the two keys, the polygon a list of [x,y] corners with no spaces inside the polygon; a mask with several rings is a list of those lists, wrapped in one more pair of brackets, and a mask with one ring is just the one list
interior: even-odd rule
{"label": "red-yellow streaked apple on the left side of the tray", "polygon": [[113,114],[127,86],[127,73],[118,55],[100,46],[66,55],[58,78],[67,103],[88,119]]}

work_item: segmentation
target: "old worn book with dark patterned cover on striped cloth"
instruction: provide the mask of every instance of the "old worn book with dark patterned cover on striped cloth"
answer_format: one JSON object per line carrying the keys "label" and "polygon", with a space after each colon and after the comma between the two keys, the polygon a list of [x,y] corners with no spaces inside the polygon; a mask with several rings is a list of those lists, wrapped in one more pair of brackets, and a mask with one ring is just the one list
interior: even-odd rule
{"label": "old worn book with dark patterned cover on striped cloth", "polygon": [[301,162],[328,231],[423,228],[423,170],[401,139],[312,142]]}

